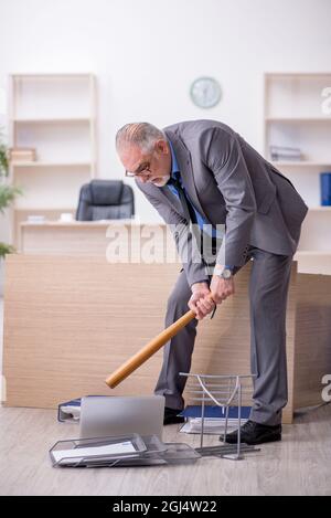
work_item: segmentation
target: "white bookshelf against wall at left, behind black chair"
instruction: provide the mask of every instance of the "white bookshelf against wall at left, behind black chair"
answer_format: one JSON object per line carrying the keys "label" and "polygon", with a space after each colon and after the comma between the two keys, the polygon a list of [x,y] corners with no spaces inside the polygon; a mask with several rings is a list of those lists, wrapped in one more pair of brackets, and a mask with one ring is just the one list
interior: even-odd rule
{"label": "white bookshelf against wall at left, behind black chair", "polygon": [[10,75],[11,147],[36,149],[36,160],[11,162],[23,195],[12,209],[12,241],[31,214],[57,219],[76,211],[79,189],[96,177],[96,80],[93,74]]}

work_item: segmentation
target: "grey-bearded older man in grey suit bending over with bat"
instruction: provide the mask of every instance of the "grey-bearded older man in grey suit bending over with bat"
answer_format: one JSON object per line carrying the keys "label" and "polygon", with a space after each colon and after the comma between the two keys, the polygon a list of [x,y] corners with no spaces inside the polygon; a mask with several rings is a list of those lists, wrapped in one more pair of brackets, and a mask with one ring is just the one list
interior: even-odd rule
{"label": "grey-bearded older man in grey suit bending over with bat", "polygon": [[[197,320],[234,294],[234,274],[253,258],[250,349],[256,379],[242,441],[281,440],[281,409],[287,403],[286,304],[292,255],[308,210],[305,202],[286,177],[218,121],[184,121],[163,130],[148,123],[128,124],[117,133],[116,149],[127,176],[136,178],[167,224],[184,223],[188,229],[194,224],[201,230],[210,224],[216,247],[211,275],[196,232],[188,232],[190,253],[169,298],[166,325],[181,317],[188,305],[196,319],[164,349],[156,387],[156,393],[166,397],[164,424],[179,422],[185,383],[179,372],[190,371]],[[225,234],[217,249],[220,224]],[[174,235],[179,242],[180,233]],[[199,262],[193,260],[196,249]],[[236,440],[236,431],[226,436],[227,442]]]}

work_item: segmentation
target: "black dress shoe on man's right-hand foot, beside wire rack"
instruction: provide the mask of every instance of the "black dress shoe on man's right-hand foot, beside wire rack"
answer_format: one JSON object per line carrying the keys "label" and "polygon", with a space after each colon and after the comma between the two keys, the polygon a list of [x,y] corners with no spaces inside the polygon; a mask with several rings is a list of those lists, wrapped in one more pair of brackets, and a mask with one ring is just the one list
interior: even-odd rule
{"label": "black dress shoe on man's right-hand foot, beside wire rack", "polygon": [[[220,441],[223,441],[223,435],[220,436]],[[237,430],[225,435],[225,442],[228,444],[235,444],[237,441]],[[281,441],[281,424],[269,426],[267,424],[255,423],[255,421],[247,421],[241,427],[241,443],[263,444],[274,441]]]}

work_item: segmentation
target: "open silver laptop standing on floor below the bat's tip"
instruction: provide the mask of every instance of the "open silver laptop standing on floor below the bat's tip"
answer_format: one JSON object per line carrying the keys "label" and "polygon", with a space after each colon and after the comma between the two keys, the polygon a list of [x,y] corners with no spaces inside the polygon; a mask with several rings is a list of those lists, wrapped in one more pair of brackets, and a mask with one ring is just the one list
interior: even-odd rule
{"label": "open silver laptop standing on floor below the bat's tip", "polygon": [[108,437],[137,433],[157,435],[162,441],[163,395],[82,398],[81,438]]}

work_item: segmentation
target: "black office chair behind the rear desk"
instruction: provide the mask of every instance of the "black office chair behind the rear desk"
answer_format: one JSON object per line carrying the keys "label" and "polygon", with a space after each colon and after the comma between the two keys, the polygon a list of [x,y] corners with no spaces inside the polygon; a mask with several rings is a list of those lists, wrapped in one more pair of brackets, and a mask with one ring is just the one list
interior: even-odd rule
{"label": "black office chair behind the rear desk", "polygon": [[119,220],[134,215],[134,190],[121,180],[92,180],[81,188],[77,221]]}

